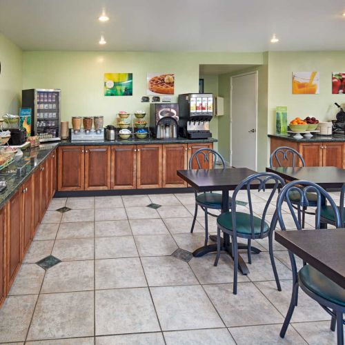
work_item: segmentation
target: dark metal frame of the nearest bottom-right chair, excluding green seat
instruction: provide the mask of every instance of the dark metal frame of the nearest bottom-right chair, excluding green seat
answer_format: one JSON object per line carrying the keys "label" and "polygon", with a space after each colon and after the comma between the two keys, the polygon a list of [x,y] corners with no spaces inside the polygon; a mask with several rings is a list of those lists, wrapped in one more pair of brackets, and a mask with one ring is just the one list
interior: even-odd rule
{"label": "dark metal frame of the nearest bottom-right chair, excluding green seat", "polygon": [[[304,186],[304,188],[301,189],[301,186]],[[297,230],[302,229],[300,217],[296,217],[295,212],[293,211],[292,202],[290,201],[288,197],[289,192],[291,190],[297,190],[301,198],[301,204],[305,203],[306,205],[308,205],[308,199],[306,197],[306,193],[308,193],[309,191],[313,191],[313,193],[317,194],[317,206],[316,206],[317,209],[315,212],[315,228],[316,229],[320,228],[320,223],[321,223],[320,208],[322,205],[322,198],[326,199],[333,208],[333,211],[335,213],[335,226],[337,226],[337,228],[342,227],[339,210],[335,202],[331,198],[331,196],[326,192],[326,190],[324,190],[324,188],[318,186],[317,184],[314,184],[313,182],[301,180],[301,181],[292,181],[286,184],[286,186],[282,188],[282,191],[279,194],[279,197],[277,199],[277,210],[273,217],[274,218],[273,221],[275,222],[279,221],[279,225],[282,230],[286,230],[284,220],[282,217],[282,204],[284,201],[286,201],[288,204],[288,208],[290,210],[291,215],[293,216],[293,220],[295,222]],[[306,293],[311,298],[315,299],[315,301],[319,303],[320,306],[322,306],[322,308],[324,308],[324,310],[329,315],[331,315],[332,317],[331,331],[335,331],[335,326],[337,325],[337,344],[343,345],[344,344],[343,325],[345,324],[345,321],[343,319],[343,314],[345,313],[345,307],[339,306],[339,304],[335,304],[333,302],[328,301],[328,299],[324,299],[323,297],[316,295],[315,293],[313,293],[313,291],[309,290],[307,286],[305,286],[302,282],[300,282],[298,279],[295,255],[293,255],[293,253],[290,252],[290,250],[288,250],[288,255],[290,257],[291,268],[293,270],[293,293],[291,295],[291,301],[290,301],[290,306],[288,308],[288,313],[286,314],[284,324],[282,326],[282,330],[280,331],[280,337],[284,338],[286,334],[286,331],[288,329],[288,324],[290,323],[290,319],[293,316],[293,311],[295,309],[295,306],[297,306],[298,288],[300,287],[302,288],[304,293]]]}

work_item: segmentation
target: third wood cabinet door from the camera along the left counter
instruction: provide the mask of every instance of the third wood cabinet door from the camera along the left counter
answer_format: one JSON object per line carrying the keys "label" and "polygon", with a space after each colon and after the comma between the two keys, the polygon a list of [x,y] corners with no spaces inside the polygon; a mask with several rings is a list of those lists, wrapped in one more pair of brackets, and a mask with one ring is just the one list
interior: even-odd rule
{"label": "third wood cabinet door from the camera along the left counter", "polygon": [[22,229],[22,257],[28,250],[33,238],[33,176],[21,186],[21,229]]}

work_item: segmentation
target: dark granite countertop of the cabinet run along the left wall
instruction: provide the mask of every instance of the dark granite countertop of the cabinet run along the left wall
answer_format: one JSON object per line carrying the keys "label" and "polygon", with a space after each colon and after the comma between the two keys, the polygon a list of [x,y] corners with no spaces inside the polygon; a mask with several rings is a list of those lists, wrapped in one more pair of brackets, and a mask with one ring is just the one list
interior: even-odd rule
{"label": "dark granite countertop of the cabinet run along the left wall", "polygon": [[0,170],[0,179],[6,180],[7,188],[0,193],[0,208],[17,192],[21,185],[39,167],[50,152],[59,146],[55,144],[43,144],[39,148],[23,150],[23,156],[14,157],[14,162]]}

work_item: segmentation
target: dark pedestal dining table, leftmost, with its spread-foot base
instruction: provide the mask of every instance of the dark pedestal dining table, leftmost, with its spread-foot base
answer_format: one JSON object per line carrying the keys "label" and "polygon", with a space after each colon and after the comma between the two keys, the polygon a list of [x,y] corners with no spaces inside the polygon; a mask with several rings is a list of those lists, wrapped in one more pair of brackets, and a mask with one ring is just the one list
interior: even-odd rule
{"label": "dark pedestal dining table, leftmost, with its spread-foot base", "polygon": [[[190,169],[190,170],[177,170],[177,175],[184,179],[190,186],[192,186],[197,193],[202,192],[215,192],[221,191],[221,213],[228,212],[229,210],[229,191],[235,188],[246,177],[257,173],[255,170],[248,168],[219,168],[219,169]],[[258,188],[259,184],[253,181],[250,188]],[[217,242],[217,236],[210,235],[213,242]],[[239,249],[248,249],[246,244],[238,244]],[[224,250],[228,255],[233,257],[230,236],[226,233],[223,234],[221,240],[221,250]],[[255,254],[260,253],[261,250],[251,246],[251,251]],[[194,257],[201,257],[207,253],[217,252],[216,244],[208,244],[197,248],[193,252]],[[248,266],[241,255],[238,260],[239,270],[244,274],[248,274]]]}

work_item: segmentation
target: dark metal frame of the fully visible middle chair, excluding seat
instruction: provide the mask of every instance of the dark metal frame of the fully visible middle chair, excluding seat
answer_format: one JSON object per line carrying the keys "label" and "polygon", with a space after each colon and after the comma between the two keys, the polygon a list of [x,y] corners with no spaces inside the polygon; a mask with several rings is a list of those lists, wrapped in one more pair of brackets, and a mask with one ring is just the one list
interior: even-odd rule
{"label": "dark metal frame of the fully visible middle chair, excluding seat", "polygon": [[[266,201],[266,206],[264,208],[264,213],[261,216],[261,230],[259,234],[255,234],[254,231],[254,215],[253,215],[253,204],[250,196],[250,191],[253,190],[253,182],[258,182],[258,190],[265,190],[266,184],[270,182],[270,184],[273,184],[272,192],[270,193],[270,196],[268,197],[268,200]],[[270,226],[269,230],[264,232],[264,225],[265,225],[265,218],[266,213],[268,210],[268,206],[270,206],[270,203],[275,195],[276,190],[279,190],[279,187],[284,186],[285,181],[282,179],[282,177],[279,177],[278,175],[274,174],[273,172],[259,172],[254,175],[250,175],[246,179],[244,179],[234,190],[233,193],[233,202],[231,204],[231,217],[232,217],[232,224],[233,229],[230,230],[228,228],[225,228],[224,226],[221,226],[219,222],[217,221],[217,255],[215,258],[215,266],[217,266],[219,257],[220,257],[220,248],[221,248],[221,231],[224,233],[227,233],[230,235],[232,240],[232,246],[233,246],[233,261],[234,261],[234,282],[233,282],[233,293],[234,295],[237,294],[237,271],[238,271],[238,248],[237,248],[237,237],[242,237],[248,239],[248,263],[251,264],[251,253],[250,253],[250,246],[251,246],[251,240],[252,239],[263,239],[265,237],[268,237],[268,252],[270,253],[270,262],[272,264],[273,273],[275,275],[275,282],[277,283],[277,289],[279,291],[282,290],[279,282],[279,277],[277,273],[277,268],[275,266],[275,258],[273,256],[273,233],[275,228]],[[236,198],[237,194],[239,193],[239,190],[247,190],[247,196],[248,196],[248,206],[249,206],[249,215],[250,215],[250,234],[243,234],[243,233],[237,233],[237,224],[236,224]]]}

